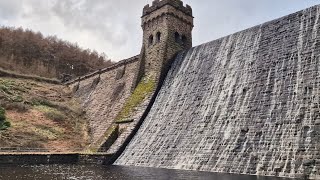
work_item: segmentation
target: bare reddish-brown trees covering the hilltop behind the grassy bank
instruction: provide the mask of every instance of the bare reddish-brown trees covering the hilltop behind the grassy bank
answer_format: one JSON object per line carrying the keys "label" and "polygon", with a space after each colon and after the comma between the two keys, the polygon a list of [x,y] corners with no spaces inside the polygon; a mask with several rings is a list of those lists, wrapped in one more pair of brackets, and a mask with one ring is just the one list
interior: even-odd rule
{"label": "bare reddish-brown trees covering the hilltop behind the grassy bank", "polygon": [[[22,66],[40,61],[48,64],[48,69],[55,68],[55,78],[61,78],[62,74],[81,76],[113,64],[104,53],[82,49],[77,44],[63,41],[56,36],[44,37],[40,32],[11,27],[0,28],[0,58],[2,61],[23,64]],[[17,66],[16,64],[13,66]],[[12,65],[10,67],[9,70],[17,69],[12,68]],[[1,68],[7,67],[2,65]],[[39,75],[37,72],[28,74]]]}

